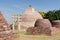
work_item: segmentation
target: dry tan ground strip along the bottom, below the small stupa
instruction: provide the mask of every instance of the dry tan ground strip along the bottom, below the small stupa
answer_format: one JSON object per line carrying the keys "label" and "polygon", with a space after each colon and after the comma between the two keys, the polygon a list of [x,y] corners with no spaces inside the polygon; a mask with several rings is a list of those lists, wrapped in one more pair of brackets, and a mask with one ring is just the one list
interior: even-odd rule
{"label": "dry tan ground strip along the bottom, below the small stupa", "polygon": [[20,35],[19,38],[14,40],[60,40],[60,35],[59,36]]}

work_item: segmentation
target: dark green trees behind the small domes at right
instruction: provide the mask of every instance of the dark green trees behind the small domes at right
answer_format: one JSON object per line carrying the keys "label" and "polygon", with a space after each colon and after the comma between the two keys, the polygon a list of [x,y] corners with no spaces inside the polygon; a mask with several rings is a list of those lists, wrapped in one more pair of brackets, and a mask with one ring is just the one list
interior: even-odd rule
{"label": "dark green trees behind the small domes at right", "polygon": [[44,18],[49,19],[51,22],[54,20],[60,20],[60,10],[48,11]]}

